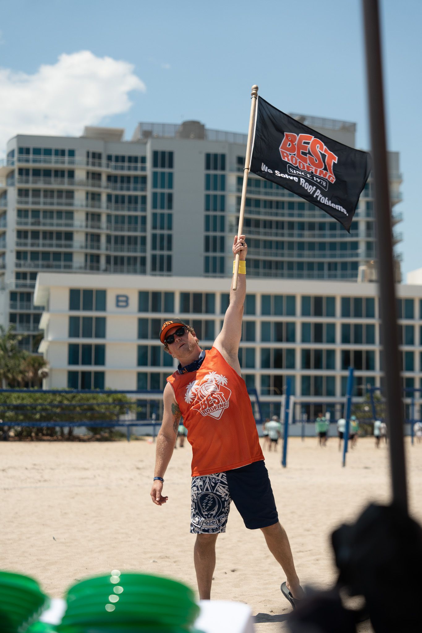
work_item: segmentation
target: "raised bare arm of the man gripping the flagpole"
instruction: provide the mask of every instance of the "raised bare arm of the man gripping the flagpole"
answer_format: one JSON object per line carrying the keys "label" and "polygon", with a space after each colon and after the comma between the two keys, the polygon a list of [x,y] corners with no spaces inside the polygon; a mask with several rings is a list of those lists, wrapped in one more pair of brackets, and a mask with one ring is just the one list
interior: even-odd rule
{"label": "raised bare arm of the man gripping the flagpole", "polygon": [[247,244],[245,244],[245,235],[235,235],[233,241],[233,257],[239,253],[239,278],[237,280],[237,289],[230,287],[230,303],[224,317],[223,328],[214,341],[214,348],[218,349],[221,356],[228,362],[233,369],[239,373],[240,364],[237,353],[239,351],[240,338],[242,337],[242,318],[243,304],[246,296],[246,265],[245,259],[247,254]]}

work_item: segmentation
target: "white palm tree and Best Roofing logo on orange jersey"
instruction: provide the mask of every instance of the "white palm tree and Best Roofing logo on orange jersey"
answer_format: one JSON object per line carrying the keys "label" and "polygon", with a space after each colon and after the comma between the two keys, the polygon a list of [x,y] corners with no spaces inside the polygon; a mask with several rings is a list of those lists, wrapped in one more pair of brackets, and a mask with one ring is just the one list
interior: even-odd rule
{"label": "white palm tree and Best Roofing logo on orange jersey", "polygon": [[199,409],[202,415],[211,415],[219,420],[228,408],[232,391],[227,387],[227,378],[221,373],[208,372],[201,380],[192,380],[186,387],[185,402]]}

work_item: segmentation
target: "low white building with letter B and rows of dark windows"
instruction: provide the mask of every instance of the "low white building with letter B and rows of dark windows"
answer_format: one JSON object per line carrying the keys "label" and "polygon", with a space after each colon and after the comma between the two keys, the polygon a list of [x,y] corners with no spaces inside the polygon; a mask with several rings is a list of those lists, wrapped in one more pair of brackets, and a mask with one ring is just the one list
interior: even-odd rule
{"label": "low white building with letter B and rows of dark windows", "polygon": [[[249,262],[247,268],[249,275]],[[163,321],[182,318],[204,349],[211,348],[229,289],[229,276],[39,273],[34,303],[44,308],[40,351],[50,365],[45,386],[162,391],[177,367],[159,342]],[[364,396],[368,385],[382,387],[377,294],[378,285],[371,283],[248,276],[239,360],[247,387],[259,392],[264,417],[280,413],[287,377],[295,415],[306,413],[308,419],[320,408],[340,416],[350,366],[355,397]],[[397,297],[403,387],[419,389],[422,285],[397,285]],[[150,417],[148,399],[156,406],[159,396],[142,397]]]}

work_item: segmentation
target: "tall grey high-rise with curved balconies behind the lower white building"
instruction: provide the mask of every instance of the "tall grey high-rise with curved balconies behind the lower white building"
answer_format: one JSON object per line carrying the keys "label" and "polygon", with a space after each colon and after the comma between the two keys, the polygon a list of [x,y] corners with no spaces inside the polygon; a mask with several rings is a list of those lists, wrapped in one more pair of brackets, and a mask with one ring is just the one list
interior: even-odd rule
{"label": "tall grey high-rise with curved balconies behind the lower white building", "polygon": [[[300,118],[354,146],[354,123]],[[27,349],[39,341],[39,271],[231,272],[246,136],[199,122],[139,123],[131,141],[123,132],[87,127],[82,137],[8,142],[0,167],[0,323],[15,323]],[[395,204],[397,153],[390,154],[390,182]],[[376,257],[371,180],[348,234],[313,204],[250,175],[244,232],[253,277],[356,280],[359,265]]]}

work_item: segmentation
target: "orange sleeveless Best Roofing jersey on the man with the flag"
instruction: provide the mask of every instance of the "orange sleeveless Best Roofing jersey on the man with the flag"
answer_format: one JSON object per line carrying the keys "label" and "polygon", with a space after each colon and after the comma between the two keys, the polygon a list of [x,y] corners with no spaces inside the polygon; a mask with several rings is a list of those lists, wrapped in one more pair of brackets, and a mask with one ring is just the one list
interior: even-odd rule
{"label": "orange sleeveless Best Roofing jersey on the man with the flag", "polygon": [[192,444],[192,477],[264,459],[245,381],[216,348],[196,372],[168,377]]}

